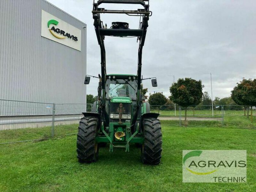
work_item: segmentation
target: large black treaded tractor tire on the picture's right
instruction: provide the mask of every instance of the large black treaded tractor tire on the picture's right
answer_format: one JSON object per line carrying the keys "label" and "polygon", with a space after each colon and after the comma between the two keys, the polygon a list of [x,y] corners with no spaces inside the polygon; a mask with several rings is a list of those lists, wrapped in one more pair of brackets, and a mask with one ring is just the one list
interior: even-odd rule
{"label": "large black treaded tractor tire on the picture's right", "polygon": [[145,118],[144,144],[141,146],[143,164],[157,165],[161,162],[162,131],[160,121],[156,118]]}

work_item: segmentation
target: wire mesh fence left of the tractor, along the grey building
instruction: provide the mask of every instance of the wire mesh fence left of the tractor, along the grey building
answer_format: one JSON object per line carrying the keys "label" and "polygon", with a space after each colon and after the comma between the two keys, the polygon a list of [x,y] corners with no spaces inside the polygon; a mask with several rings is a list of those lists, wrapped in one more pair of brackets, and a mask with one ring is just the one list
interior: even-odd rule
{"label": "wire mesh fence left of the tractor, along the grey building", "polygon": [[0,100],[0,143],[75,134],[71,125],[78,124],[86,111],[92,111],[92,104]]}

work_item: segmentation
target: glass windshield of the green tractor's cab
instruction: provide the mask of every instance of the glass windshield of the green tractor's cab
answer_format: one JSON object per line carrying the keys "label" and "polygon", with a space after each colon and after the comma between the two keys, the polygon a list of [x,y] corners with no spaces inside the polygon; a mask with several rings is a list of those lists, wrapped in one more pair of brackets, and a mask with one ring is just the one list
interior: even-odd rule
{"label": "glass windshield of the green tractor's cab", "polygon": [[108,79],[106,81],[106,92],[106,99],[129,97],[136,100],[137,82],[136,80]]}

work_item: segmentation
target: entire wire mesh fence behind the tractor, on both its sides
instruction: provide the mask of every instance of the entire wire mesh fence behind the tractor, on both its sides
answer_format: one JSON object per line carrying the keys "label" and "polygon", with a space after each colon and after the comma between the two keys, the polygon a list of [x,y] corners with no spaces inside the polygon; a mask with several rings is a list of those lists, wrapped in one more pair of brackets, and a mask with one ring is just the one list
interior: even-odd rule
{"label": "entire wire mesh fence behind the tractor, on both its sides", "polygon": [[[184,126],[185,108],[176,105],[150,106],[163,125]],[[187,107],[187,126],[256,128],[256,111],[251,123],[250,108],[238,105]],[[76,134],[82,112],[92,104],[55,104],[0,100],[0,144]],[[166,120],[166,121],[165,121]]]}

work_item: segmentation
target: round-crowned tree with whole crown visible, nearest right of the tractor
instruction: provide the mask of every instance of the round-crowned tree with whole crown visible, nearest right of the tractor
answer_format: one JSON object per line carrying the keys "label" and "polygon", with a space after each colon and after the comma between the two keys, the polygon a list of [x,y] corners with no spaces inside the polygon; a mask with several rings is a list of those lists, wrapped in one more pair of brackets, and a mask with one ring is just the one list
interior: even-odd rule
{"label": "round-crowned tree with whole crown visible, nearest right of the tractor", "polygon": [[187,107],[190,105],[198,105],[203,97],[202,81],[196,81],[192,78],[179,79],[177,83],[173,83],[170,87],[170,99],[174,103],[185,107],[185,126],[187,122]]}

